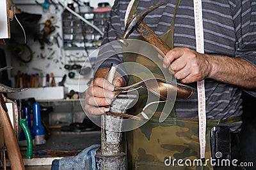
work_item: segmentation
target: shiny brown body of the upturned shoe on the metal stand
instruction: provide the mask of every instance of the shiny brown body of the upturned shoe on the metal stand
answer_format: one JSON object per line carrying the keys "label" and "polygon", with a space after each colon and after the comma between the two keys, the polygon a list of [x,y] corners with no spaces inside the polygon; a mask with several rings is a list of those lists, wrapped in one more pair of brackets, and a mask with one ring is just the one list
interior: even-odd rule
{"label": "shiny brown body of the upturned shoe on the metal stand", "polygon": [[115,87],[115,96],[122,92],[131,92],[143,87],[163,100],[170,100],[172,97],[170,94],[175,92],[177,92],[176,99],[189,99],[196,90],[188,85],[156,78],[140,81],[127,87]]}

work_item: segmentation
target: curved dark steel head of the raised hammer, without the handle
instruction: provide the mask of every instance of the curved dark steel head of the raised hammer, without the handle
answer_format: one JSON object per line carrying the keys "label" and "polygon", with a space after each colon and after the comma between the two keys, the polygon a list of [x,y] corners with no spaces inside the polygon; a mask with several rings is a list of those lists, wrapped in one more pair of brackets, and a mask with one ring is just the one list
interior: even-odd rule
{"label": "curved dark steel head of the raised hammer, without the handle", "polygon": [[163,4],[165,3],[163,2],[155,4],[154,6],[150,6],[149,8],[146,8],[145,10],[142,10],[132,15],[132,18],[127,20],[127,24],[125,25],[125,31],[121,39],[127,39],[129,35],[138,27],[138,25],[140,25],[140,23],[143,21],[143,19],[146,17],[148,13],[150,13],[153,10],[156,10],[156,8]]}

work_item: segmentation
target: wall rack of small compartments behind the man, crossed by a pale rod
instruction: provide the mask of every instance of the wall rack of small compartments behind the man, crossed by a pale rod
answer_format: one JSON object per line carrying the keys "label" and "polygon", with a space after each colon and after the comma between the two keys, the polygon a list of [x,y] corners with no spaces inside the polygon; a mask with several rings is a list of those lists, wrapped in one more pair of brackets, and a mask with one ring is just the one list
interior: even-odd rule
{"label": "wall rack of small compartments behind the man, crossed by a pale rod", "polygon": [[[104,25],[108,21],[109,11],[86,12],[81,13],[81,16],[104,32]],[[95,49],[100,46],[102,35],[95,31],[95,29],[81,22],[78,17],[72,15],[67,10],[63,11],[61,17],[63,25],[63,48],[65,50],[83,50],[84,42],[88,49]]]}

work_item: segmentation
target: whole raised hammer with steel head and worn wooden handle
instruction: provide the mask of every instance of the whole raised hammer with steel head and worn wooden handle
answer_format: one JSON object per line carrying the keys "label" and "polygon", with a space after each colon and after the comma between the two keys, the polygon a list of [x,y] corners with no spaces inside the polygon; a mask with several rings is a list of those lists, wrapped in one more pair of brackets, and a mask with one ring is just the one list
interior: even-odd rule
{"label": "whole raised hammer with steel head and worn wooden handle", "polygon": [[159,38],[159,36],[157,36],[157,34],[155,34],[155,32],[152,31],[152,29],[150,29],[147,24],[143,22],[143,19],[148,13],[156,10],[156,8],[163,4],[165,3],[157,3],[154,6],[150,6],[149,8],[146,8],[145,10],[142,10],[132,15],[132,18],[127,20],[127,24],[125,26],[125,31],[122,35],[122,38],[116,39],[120,40],[122,43],[125,44],[124,39],[127,39],[130,34],[136,29],[141,34],[141,36],[145,38],[146,41],[148,41],[148,43],[156,46],[161,52],[164,53],[164,55],[166,55],[166,53],[169,52],[171,48],[173,48],[173,46],[171,46],[170,48],[168,45],[166,45],[166,43],[164,43],[164,41]]}

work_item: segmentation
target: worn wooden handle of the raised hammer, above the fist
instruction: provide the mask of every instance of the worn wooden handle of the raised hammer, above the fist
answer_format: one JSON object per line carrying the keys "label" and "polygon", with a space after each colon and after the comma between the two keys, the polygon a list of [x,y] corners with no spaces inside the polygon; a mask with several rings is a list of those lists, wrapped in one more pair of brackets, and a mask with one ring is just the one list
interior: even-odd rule
{"label": "worn wooden handle of the raised hammer, above the fist", "polygon": [[159,38],[159,36],[157,36],[157,34],[155,34],[155,32],[152,31],[152,29],[150,29],[150,27],[148,27],[148,25],[144,22],[141,22],[136,30],[141,34],[141,36],[143,36],[143,38],[146,39],[146,41],[148,41],[148,43],[156,46],[161,52],[164,53],[164,55],[171,50],[171,48],[166,45],[166,43],[164,43],[164,41]]}

